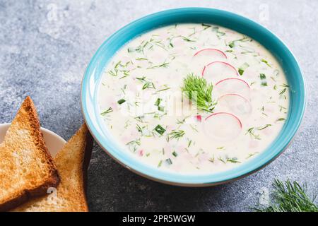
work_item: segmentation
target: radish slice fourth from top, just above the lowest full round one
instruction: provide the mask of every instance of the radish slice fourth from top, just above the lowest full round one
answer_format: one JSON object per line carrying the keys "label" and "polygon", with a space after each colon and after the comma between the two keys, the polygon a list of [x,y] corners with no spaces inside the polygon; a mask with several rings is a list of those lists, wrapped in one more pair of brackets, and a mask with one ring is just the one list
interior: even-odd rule
{"label": "radish slice fourth from top, just above the lowest full round one", "polygon": [[235,93],[230,93],[218,98],[216,110],[231,112],[238,117],[247,117],[252,113],[252,106],[245,97]]}

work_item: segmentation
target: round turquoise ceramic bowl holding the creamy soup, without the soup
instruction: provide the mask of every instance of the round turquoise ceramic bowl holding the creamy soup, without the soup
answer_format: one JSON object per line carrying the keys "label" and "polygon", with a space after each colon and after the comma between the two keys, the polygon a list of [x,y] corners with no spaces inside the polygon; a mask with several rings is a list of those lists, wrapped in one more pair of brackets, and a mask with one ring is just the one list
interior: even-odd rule
{"label": "round turquoise ceramic bowl holding the creamy soup, without the soup", "polygon": [[[177,174],[164,172],[155,167],[144,165],[139,160],[127,155],[119,145],[112,141],[110,133],[102,129],[98,109],[98,85],[105,66],[112,56],[126,42],[143,32],[174,23],[212,23],[252,37],[264,45],[278,59],[290,84],[290,111],[281,133],[269,148],[242,165],[225,172],[211,174]],[[120,164],[143,177],[167,184],[182,186],[209,186],[230,182],[261,169],[278,157],[295,136],[306,105],[305,81],[300,66],[288,47],[276,35],[252,20],[227,11],[212,8],[177,8],[140,18],[115,32],[98,49],[86,69],[82,83],[82,109],[86,124],[95,137],[95,141]]]}

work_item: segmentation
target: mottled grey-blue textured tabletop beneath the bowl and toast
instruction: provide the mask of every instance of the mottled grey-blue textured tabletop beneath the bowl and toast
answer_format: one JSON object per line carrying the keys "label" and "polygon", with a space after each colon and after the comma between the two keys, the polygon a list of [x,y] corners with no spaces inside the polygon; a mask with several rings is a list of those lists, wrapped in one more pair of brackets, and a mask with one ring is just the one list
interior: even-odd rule
{"label": "mottled grey-blue textured tabletop beneath the bowl and toast", "polygon": [[309,95],[303,124],[285,153],[265,169],[222,186],[180,188],[129,172],[95,145],[88,173],[90,210],[245,211],[274,178],[307,182],[310,191],[318,190],[318,1],[196,2],[0,0],[0,123],[11,121],[31,95],[42,126],[65,139],[83,122],[81,78],[94,52],[112,32],[155,11],[206,6],[257,20],[288,44],[305,73]]}

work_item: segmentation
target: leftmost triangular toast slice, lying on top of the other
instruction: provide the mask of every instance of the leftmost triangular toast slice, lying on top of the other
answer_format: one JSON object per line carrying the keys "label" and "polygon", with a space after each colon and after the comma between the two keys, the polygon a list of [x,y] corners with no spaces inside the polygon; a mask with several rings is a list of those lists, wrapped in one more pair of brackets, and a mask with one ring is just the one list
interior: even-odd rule
{"label": "leftmost triangular toast slice, lying on top of the other", "polygon": [[47,194],[59,177],[40,131],[37,111],[26,97],[0,144],[0,211]]}

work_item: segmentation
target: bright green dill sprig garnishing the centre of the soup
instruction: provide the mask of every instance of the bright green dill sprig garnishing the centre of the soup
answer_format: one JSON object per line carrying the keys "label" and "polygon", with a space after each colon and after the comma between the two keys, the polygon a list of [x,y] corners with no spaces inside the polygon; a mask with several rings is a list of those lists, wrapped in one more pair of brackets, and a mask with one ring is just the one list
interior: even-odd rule
{"label": "bright green dill sprig garnishing the centre of the soup", "polygon": [[212,100],[213,85],[207,83],[205,78],[194,76],[190,73],[184,78],[182,92],[191,100],[198,109],[212,112],[216,102]]}

